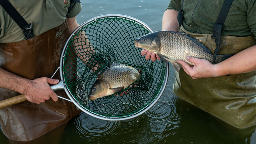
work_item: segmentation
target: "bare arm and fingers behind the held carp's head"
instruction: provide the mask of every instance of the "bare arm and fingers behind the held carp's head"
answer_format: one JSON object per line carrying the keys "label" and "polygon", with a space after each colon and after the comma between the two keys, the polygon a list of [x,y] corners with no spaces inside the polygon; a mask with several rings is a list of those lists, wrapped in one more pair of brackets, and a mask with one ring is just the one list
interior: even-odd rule
{"label": "bare arm and fingers behind the held carp's head", "polygon": [[[178,31],[178,20],[177,20],[178,11],[168,9],[164,12],[163,18],[162,18],[162,30],[166,31]],[[140,54],[142,56],[145,56],[146,60],[151,59],[152,62],[155,62],[157,59],[160,60],[158,55],[156,55],[153,52],[150,52],[146,49],[142,49]]]}

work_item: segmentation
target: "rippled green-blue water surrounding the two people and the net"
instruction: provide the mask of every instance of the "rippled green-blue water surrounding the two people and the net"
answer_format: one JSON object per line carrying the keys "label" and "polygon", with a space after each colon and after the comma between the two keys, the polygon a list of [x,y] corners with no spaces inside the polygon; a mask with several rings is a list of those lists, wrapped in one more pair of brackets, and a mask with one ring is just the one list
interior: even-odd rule
{"label": "rippled green-blue water surrounding the two people and the net", "polygon": [[[82,24],[104,14],[124,14],[141,20],[154,31],[161,21],[169,0],[82,0],[77,16]],[[146,113],[127,121],[104,121],[85,113],[70,120],[63,131],[55,129],[40,143],[56,144],[254,144],[252,130],[238,130],[177,98],[172,92],[174,69],[160,100]],[[60,138],[59,135],[62,135]],[[9,143],[0,133],[0,143]]]}

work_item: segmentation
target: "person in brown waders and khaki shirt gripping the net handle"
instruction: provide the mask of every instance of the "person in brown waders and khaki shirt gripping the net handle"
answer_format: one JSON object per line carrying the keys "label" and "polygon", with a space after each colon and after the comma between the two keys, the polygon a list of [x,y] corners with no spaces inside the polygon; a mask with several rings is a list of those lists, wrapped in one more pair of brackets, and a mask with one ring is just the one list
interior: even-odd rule
{"label": "person in brown waders and khaki shirt gripping the net handle", "polygon": [[[31,141],[65,125],[81,111],[64,90],[49,84],[61,50],[79,25],[79,0],[0,1],[0,100],[24,94],[29,101],[0,109],[2,132],[11,140]],[[58,76],[59,74],[55,74]],[[55,139],[55,138],[54,138]]]}

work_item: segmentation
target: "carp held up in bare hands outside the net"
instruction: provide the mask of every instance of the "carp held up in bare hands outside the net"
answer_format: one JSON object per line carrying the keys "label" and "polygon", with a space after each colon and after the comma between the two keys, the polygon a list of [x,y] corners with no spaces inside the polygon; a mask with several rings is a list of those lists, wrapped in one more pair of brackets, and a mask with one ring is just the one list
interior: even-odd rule
{"label": "carp held up in bare hands outside the net", "polygon": [[156,53],[165,63],[170,61],[177,72],[180,72],[178,60],[194,65],[186,60],[187,56],[206,59],[214,64],[233,55],[217,55],[213,62],[214,55],[200,41],[186,33],[173,31],[152,32],[136,39],[134,43],[136,47]]}

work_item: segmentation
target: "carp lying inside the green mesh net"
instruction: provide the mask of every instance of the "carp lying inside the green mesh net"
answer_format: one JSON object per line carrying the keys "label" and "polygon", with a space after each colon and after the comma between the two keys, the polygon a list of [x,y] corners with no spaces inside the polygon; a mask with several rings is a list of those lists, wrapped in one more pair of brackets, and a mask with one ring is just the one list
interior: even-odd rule
{"label": "carp lying inside the green mesh net", "polygon": [[133,84],[139,77],[140,72],[135,68],[112,63],[99,74],[90,90],[89,99],[94,100],[117,93]]}

